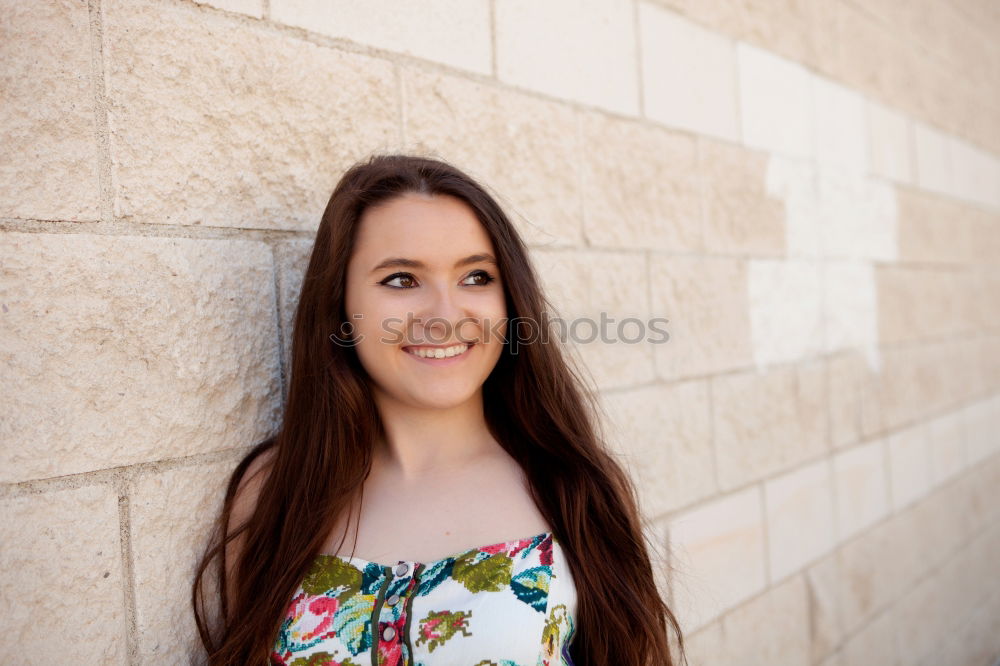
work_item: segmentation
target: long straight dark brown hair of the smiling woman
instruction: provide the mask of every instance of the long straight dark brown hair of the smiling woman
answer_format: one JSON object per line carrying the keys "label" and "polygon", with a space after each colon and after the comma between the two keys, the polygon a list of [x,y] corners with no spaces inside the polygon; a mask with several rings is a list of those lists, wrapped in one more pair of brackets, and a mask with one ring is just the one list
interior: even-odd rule
{"label": "long straight dark brown hair of the smiling woman", "polygon": [[[348,330],[346,269],[363,211],[409,192],[451,195],[472,209],[496,249],[508,321],[553,316],[523,241],[468,175],[412,155],[374,155],[344,174],[323,213],[302,283],[281,428],[233,471],[197,569],[192,604],[209,664],[268,663],[295,589],[371,467],[383,433],[367,374],[354,348],[330,336]],[[573,663],[676,664],[671,642],[683,658],[680,627],[657,588],[635,488],[599,436],[599,406],[558,344],[521,344],[514,353],[513,333],[508,329],[484,383],[484,413],[492,436],[524,469],[535,503],[564,547],[577,588]],[[230,531],[241,480],[268,450],[273,455],[256,505]],[[225,545],[239,535],[244,547],[227,581]],[[220,617],[210,623],[202,579],[213,559],[221,603]]]}

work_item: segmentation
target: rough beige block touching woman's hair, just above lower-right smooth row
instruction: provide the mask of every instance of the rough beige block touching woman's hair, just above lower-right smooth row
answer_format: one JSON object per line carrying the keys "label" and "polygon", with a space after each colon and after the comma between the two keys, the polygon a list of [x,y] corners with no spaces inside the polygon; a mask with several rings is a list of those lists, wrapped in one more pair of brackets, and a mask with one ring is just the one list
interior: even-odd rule
{"label": "rough beige block touching woman's hair, just above lower-right smooth row", "polygon": [[608,430],[649,515],[715,491],[708,383],[654,385],[604,394]]}

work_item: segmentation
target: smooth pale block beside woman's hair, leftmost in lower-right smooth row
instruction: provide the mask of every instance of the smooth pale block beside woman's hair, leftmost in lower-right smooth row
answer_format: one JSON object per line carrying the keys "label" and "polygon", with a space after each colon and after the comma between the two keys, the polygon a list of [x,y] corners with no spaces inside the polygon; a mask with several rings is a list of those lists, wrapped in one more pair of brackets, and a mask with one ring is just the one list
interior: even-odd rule
{"label": "smooth pale block beside woman's hair, leftmost in lower-right smooth row", "polygon": [[670,521],[674,603],[696,631],[766,585],[760,488],[719,497]]}

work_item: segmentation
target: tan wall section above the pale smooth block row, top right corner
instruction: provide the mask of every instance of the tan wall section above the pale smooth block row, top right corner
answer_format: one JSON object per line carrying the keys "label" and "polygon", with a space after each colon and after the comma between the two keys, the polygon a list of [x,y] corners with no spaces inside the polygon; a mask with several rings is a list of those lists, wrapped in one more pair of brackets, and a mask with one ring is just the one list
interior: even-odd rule
{"label": "tan wall section above the pale smooth block row, top right corner", "polygon": [[1000,19],[990,3],[655,1],[1000,152]]}

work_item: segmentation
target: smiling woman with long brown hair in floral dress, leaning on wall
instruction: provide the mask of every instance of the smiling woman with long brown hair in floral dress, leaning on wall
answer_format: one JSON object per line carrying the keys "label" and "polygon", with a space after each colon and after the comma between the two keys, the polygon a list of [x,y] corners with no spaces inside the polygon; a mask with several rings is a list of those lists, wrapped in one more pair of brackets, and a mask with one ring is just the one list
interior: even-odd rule
{"label": "smiling woman with long brown hair in floral dress, leaning on wall", "polygon": [[547,305],[469,176],[406,155],[347,171],[282,427],[233,472],[194,582],[210,664],[676,663],[634,488],[538,339]]}

